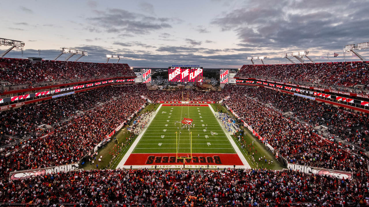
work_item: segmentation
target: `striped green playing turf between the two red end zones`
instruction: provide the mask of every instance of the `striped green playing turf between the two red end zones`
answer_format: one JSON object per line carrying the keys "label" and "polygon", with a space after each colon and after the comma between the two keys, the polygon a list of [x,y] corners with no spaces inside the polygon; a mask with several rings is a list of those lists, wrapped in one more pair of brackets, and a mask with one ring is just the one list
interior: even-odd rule
{"label": "striped green playing turf between the two red end zones", "polygon": [[[181,129],[183,117],[193,119],[194,128]],[[208,106],[162,106],[132,153],[190,153],[191,150],[192,153],[235,153]]]}

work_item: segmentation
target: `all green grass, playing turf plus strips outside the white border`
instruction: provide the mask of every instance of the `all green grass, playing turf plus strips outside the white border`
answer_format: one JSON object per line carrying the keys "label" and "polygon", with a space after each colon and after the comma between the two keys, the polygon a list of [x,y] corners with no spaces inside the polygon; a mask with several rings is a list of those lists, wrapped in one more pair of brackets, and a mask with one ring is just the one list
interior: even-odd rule
{"label": "all green grass, playing turf plus strips outside the white border", "polygon": [[[150,110],[156,110],[159,107],[159,104],[149,104],[146,106],[144,110],[141,110],[139,114],[142,114],[143,112],[146,112],[146,109]],[[222,110],[223,112],[227,112],[232,117],[233,115],[227,111],[227,109],[220,105],[220,104],[211,104],[211,107],[214,109],[215,112],[218,110]],[[173,108],[173,109],[172,109]],[[197,109],[199,108],[199,109]],[[172,112],[170,112],[172,110]],[[200,112],[198,112],[200,110]],[[165,111],[166,113],[162,113]],[[169,113],[172,113],[169,115]],[[182,115],[181,115],[182,113]],[[187,115],[185,115],[187,113]],[[199,115],[201,113],[201,115]],[[170,116],[170,118],[168,118]],[[202,118],[200,118],[202,116]],[[159,113],[156,115],[155,119],[150,124],[149,128],[146,130],[145,134],[142,136],[139,144],[137,145],[136,149],[133,153],[150,153],[150,152],[160,152],[160,153],[175,153],[176,149],[179,150],[179,152],[189,153],[190,152],[190,138],[189,138],[189,131],[187,129],[183,130],[177,130],[177,126],[181,126],[182,123],[176,123],[176,126],[174,126],[175,121],[180,122],[182,121],[183,117],[192,118],[195,124],[194,129],[190,129],[192,131],[192,152],[193,153],[235,153],[234,149],[232,148],[232,145],[228,141],[228,138],[225,136],[224,131],[221,129],[221,126],[218,124],[215,116],[211,112],[209,107],[206,106],[162,106],[159,110]],[[166,120],[169,120],[167,122]],[[203,120],[203,122],[201,122]],[[165,126],[165,124],[168,124],[168,126]],[[201,126],[201,124],[208,124],[207,131],[204,132],[203,129],[205,127]],[[179,127],[180,128],[180,127]],[[167,129],[165,132],[163,129]],[[274,158],[274,155],[271,154],[269,151],[265,150],[265,147],[263,147],[263,144],[255,138],[251,134],[248,129],[244,129],[241,126],[241,129],[245,130],[246,135],[244,135],[244,141],[243,143],[246,143],[247,145],[252,145],[252,141],[254,141],[254,149],[251,150],[255,153],[255,161],[251,161],[251,155],[248,155],[249,148],[242,149],[241,148],[241,142],[238,141],[237,138],[233,138],[238,148],[241,150],[242,154],[245,156],[246,160],[249,162],[251,168],[256,168],[256,163],[259,163],[260,167],[265,167],[267,169],[282,169],[283,165],[276,161]],[[151,130],[151,131],[149,131]],[[182,131],[181,136],[179,138],[179,147],[176,146],[176,137],[175,137],[175,131]],[[217,135],[211,135],[210,131],[218,133]],[[200,134],[200,137],[197,138],[197,134]],[[110,168],[114,169],[120,160],[123,158],[125,153],[128,151],[128,148],[130,147],[129,143],[133,143],[135,140],[132,139],[131,141],[126,141],[126,138],[129,137],[130,132],[127,131],[126,128],[121,129],[115,137],[118,138],[118,142],[121,144],[122,142],[125,143],[125,147],[122,149],[122,151],[117,155],[115,159],[111,162]],[[164,138],[161,138],[161,135],[164,135]],[[205,135],[208,136],[208,138],[205,138]],[[238,135],[238,134],[237,134]],[[236,136],[237,136],[236,135]],[[233,136],[232,136],[233,137]],[[145,141],[144,141],[145,140]],[[207,143],[210,143],[211,145],[207,145]],[[161,146],[158,145],[158,143],[162,143]],[[164,144],[165,143],[165,144]],[[103,149],[99,149],[99,157],[100,155],[103,155],[101,163],[99,163],[99,168],[107,167],[108,164],[111,161],[111,156],[109,154],[109,151],[113,149],[115,146],[114,141],[110,141],[104,147]],[[173,147],[172,147],[173,146]],[[144,148],[144,149],[138,149],[138,148]],[[227,149],[219,149],[219,148],[227,148]],[[265,157],[269,160],[273,160],[272,165],[265,164],[265,161],[259,162],[259,157]],[[96,161],[95,166],[90,165],[89,162],[84,166],[84,169],[96,169]]]}

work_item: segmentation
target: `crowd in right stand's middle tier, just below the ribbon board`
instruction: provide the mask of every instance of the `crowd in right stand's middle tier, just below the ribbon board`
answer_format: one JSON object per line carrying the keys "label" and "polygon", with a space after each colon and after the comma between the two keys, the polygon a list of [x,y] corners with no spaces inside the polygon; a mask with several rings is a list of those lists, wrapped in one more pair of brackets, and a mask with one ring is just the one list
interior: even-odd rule
{"label": "crowd in right stand's middle tier, just below the ribbon board", "polygon": [[242,87],[236,88],[249,97],[258,98],[258,101],[271,103],[282,112],[293,112],[292,116],[313,126],[323,124],[328,127],[329,133],[369,149],[369,117],[366,113],[349,112],[343,107],[326,105],[263,87],[248,88],[246,91]]}

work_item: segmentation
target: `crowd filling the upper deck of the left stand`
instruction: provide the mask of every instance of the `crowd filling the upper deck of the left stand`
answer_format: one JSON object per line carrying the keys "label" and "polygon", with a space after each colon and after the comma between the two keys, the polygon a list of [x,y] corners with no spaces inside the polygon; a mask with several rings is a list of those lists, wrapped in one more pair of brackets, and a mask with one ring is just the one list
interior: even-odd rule
{"label": "crowd filling the upper deck of the left stand", "polygon": [[53,60],[32,63],[28,59],[0,59],[0,80],[8,81],[11,84],[29,84],[99,76],[123,77],[135,75],[128,64]]}

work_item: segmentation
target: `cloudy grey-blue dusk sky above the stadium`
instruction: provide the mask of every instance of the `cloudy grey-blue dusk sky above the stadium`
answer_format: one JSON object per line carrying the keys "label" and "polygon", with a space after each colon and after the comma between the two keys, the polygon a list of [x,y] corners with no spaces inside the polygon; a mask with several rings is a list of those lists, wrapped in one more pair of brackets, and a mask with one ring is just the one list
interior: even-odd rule
{"label": "cloudy grey-blue dusk sky above the stadium", "polygon": [[[239,68],[261,55],[282,64],[282,53],[300,50],[316,62],[327,62],[327,53],[337,62],[344,45],[369,41],[367,0],[16,0],[0,1],[0,11],[0,38],[24,41],[23,58],[41,50],[53,59],[65,47],[86,50],[85,62],[124,55],[132,67]],[[369,58],[369,49],[359,52]],[[22,55],[18,49],[6,57]],[[346,54],[351,60],[359,59]]]}

